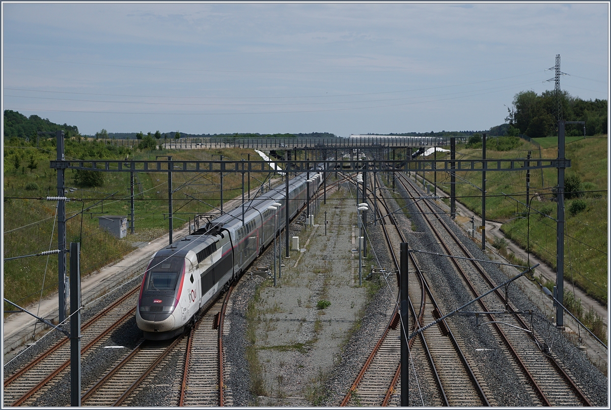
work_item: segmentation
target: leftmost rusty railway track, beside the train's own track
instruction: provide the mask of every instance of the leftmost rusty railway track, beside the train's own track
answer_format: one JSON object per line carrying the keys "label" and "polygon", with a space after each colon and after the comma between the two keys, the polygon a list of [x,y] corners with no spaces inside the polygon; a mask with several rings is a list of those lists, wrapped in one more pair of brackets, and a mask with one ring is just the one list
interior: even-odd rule
{"label": "leftmost rusty railway track, beside the train's own track", "polygon": [[[108,339],[117,326],[122,325],[135,314],[137,290],[126,293],[104,311],[95,315],[81,326],[81,358]],[[65,337],[35,358],[28,365],[4,379],[4,405],[31,405],[70,372],[70,339]]]}

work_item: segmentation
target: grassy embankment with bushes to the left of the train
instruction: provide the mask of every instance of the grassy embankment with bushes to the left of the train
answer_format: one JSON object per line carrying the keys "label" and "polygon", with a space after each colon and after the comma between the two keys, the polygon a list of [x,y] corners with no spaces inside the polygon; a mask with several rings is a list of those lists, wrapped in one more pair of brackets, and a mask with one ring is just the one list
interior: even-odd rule
{"label": "grassy embankment with bushes to the left of the train", "polygon": [[[34,142],[35,144],[35,142]],[[57,173],[49,168],[49,160],[55,159],[53,146],[36,149],[4,149],[4,257],[37,254],[46,250],[57,249],[56,202],[32,198],[57,195]],[[66,157],[79,156],[86,158],[86,153],[93,153],[104,159],[123,159],[124,152],[109,149],[96,142],[67,143]],[[130,159],[155,160],[160,151],[130,150]],[[115,156],[112,156],[112,153]],[[210,160],[212,154],[222,154],[227,159],[240,160],[242,154],[252,153],[245,149],[211,149],[193,151],[169,151],[163,154],[172,155],[174,160]],[[15,156],[29,157],[34,155],[36,167],[15,169]],[[256,155],[256,154],[255,154]],[[214,159],[218,159],[215,156]],[[21,165],[27,165],[25,159]],[[161,173],[136,173],[134,192],[134,226],[136,234],[128,233],[124,239],[116,239],[106,231],[98,228],[98,215],[130,215],[130,174],[105,173],[104,185],[97,188],[77,187],[74,182],[75,171],[65,172],[67,192],[67,242],[81,242],[81,275],[85,276],[113,261],[118,261],[134,249],[134,242],[147,242],[168,230],[167,207],[167,171]],[[173,195],[174,228],[189,221],[194,214],[208,212],[211,206],[219,207],[220,193],[218,174],[174,173],[173,188],[178,189]],[[34,185],[38,189],[26,190]],[[187,184],[189,182],[189,184]],[[185,186],[182,186],[185,184]],[[227,174],[224,176],[224,200],[241,196],[241,176]],[[251,189],[258,182],[251,176]],[[202,202],[192,200],[185,195],[204,198]],[[114,194],[114,195],[111,195]],[[23,199],[9,199],[23,198]],[[104,199],[106,198],[106,199]],[[77,201],[78,200],[78,201]],[[103,200],[103,201],[102,201]],[[85,214],[81,214],[81,210]],[[129,218],[129,217],[128,217]],[[128,229],[130,232],[130,229]],[[4,293],[10,300],[27,306],[38,300],[41,289],[43,297],[57,290],[57,257],[27,257],[7,261],[4,265]],[[5,306],[5,310],[12,310]]]}

